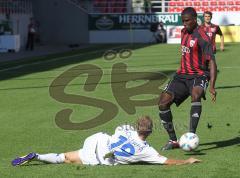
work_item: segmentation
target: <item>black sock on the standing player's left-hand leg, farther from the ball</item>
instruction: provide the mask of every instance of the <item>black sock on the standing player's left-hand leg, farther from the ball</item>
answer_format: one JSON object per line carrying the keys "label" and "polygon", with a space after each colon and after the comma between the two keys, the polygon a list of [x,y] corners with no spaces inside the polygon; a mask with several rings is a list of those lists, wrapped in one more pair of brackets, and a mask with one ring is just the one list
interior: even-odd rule
{"label": "black sock on the standing player's left-hand leg, farther from the ball", "polygon": [[172,123],[172,112],[170,109],[165,111],[160,111],[159,116],[161,119],[161,123],[163,127],[166,129],[169,135],[169,139],[172,141],[177,141],[177,136],[174,130],[174,126]]}

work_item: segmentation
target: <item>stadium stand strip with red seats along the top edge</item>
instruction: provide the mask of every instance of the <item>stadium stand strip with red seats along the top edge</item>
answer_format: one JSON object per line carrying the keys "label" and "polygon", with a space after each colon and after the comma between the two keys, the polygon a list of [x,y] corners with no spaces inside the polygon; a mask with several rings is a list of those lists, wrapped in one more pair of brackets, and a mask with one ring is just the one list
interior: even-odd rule
{"label": "stadium stand strip with red seats along the top edge", "polygon": [[[179,13],[185,7],[194,7],[198,12],[240,11],[240,0],[69,0],[89,13]],[[146,8],[151,4],[151,9]]]}

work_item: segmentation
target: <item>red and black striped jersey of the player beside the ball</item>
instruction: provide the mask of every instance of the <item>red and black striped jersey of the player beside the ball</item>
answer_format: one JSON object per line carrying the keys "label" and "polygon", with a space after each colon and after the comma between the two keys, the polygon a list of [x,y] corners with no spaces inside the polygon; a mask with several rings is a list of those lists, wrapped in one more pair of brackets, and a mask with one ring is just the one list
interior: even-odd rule
{"label": "red and black striped jersey of the player beside the ball", "polygon": [[192,33],[188,33],[186,28],[182,29],[181,50],[181,66],[177,74],[209,77],[208,64],[210,60],[215,60],[215,56],[210,38],[201,26],[197,26]]}

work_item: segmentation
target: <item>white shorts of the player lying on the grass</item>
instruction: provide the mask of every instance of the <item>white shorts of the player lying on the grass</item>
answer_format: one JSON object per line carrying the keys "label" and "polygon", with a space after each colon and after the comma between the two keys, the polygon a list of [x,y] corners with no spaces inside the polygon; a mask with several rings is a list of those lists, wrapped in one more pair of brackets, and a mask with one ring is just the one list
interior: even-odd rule
{"label": "white shorts of the player lying on the grass", "polygon": [[79,157],[83,164],[86,165],[110,165],[107,160],[104,160],[105,154],[109,153],[110,136],[99,132],[89,136],[84,141],[83,148],[79,150]]}

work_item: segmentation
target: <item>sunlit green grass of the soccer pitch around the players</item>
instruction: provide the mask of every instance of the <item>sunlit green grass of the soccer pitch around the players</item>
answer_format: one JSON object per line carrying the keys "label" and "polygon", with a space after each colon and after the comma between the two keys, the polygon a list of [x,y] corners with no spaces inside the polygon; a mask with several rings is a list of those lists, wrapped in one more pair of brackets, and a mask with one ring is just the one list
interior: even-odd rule
{"label": "sunlit green grass of the soccer pitch around the players", "polygon": [[[137,107],[136,114],[129,115],[119,106],[111,90],[111,69],[113,64],[120,62],[128,65],[128,71],[163,72],[170,76],[179,66],[179,45],[136,45],[125,46],[125,48],[133,48],[133,54],[128,59],[117,58],[106,61],[102,58],[102,54],[104,50],[110,49],[110,46],[103,46],[103,50],[101,46],[94,46],[93,49],[88,48],[86,51],[46,56],[42,62],[41,58],[34,58],[28,59],[27,63],[11,63],[10,66],[19,64],[22,66],[0,72],[1,177],[239,177],[240,44],[226,44],[226,50],[216,55],[220,70],[216,84],[217,102],[211,103],[210,94],[207,93],[207,101],[203,101],[202,117],[197,130],[200,146],[196,152],[182,150],[161,152],[160,148],[166,143],[168,137],[159,124],[157,105]],[[62,56],[64,58],[58,59]],[[38,63],[35,64],[35,62]],[[49,86],[56,77],[82,64],[93,64],[103,70],[100,84],[95,91],[84,91],[83,84],[86,80],[86,74],[84,74],[75,78],[65,91],[110,101],[118,107],[118,113],[111,121],[95,128],[63,130],[55,123],[55,115],[61,109],[73,109],[71,120],[76,123],[89,120],[101,112],[94,107],[58,102],[49,94]],[[4,63],[3,66],[6,68],[9,64]],[[158,81],[158,79],[153,80]],[[159,80],[159,82],[162,81]],[[136,80],[129,82],[127,86],[133,87],[140,84],[143,84],[143,81]],[[152,97],[157,95],[133,98]],[[190,100],[185,101],[179,108],[172,107],[178,137],[188,130],[189,110]],[[162,155],[177,159],[195,156],[203,162],[172,167],[161,165],[92,167],[37,162],[27,166],[12,167],[10,164],[16,156],[32,151],[61,153],[77,150],[83,145],[87,136],[99,131],[112,134],[119,124],[134,123],[138,116],[144,114],[150,115],[154,120],[154,132],[148,138],[148,142]],[[212,125],[211,128],[207,127],[209,124]]]}

